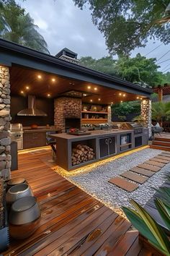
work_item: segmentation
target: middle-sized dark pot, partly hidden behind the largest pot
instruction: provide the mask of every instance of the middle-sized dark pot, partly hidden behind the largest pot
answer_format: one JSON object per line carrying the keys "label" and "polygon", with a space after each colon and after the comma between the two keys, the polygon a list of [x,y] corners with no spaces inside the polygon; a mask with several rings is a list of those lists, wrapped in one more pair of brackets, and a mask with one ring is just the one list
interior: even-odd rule
{"label": "middle-sized dark pot, partly hidden behind the largest pot", "polygon": [[20,198],[29,196],[33,196],[33,192],[28,184],[15,185],[6,192],[6,202],[8,205],[12,205]]}

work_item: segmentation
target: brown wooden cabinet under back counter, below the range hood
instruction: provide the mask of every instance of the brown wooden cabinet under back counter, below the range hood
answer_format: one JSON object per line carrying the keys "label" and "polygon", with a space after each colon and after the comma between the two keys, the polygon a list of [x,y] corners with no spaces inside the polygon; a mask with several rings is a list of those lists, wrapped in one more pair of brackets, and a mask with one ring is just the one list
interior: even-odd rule
{"label": "brown wooden cabinet under back counter, below the range hood", "polygon": [[23,134],[24,149],[37,148],[46,145],[45,132],[29,132]]}

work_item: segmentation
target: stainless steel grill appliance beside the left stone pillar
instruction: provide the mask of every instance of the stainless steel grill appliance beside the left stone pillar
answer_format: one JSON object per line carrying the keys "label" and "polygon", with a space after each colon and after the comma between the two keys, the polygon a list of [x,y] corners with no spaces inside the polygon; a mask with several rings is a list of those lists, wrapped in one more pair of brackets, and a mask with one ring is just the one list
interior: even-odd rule
{"label": "stainless steel grill appliance beside the left stone pillar", "polygon": [[17,142],[17,149],[23,149],[23,129],[22,124],[11,124],[11,140]]}

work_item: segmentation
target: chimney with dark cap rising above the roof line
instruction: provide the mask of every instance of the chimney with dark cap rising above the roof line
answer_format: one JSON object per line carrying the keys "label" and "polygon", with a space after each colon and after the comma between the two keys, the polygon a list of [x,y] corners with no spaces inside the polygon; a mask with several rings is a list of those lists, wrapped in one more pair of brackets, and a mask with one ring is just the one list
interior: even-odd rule
{"label": "chimney with dark cap rising above the roof line", "polygon": [[65,61],[69,61],[74,64],[79,64],[77,54],[69,50],[68,48],[63,48],[63,50],[59,51],[58,54],[55,55],[55,57],[63,59]]}

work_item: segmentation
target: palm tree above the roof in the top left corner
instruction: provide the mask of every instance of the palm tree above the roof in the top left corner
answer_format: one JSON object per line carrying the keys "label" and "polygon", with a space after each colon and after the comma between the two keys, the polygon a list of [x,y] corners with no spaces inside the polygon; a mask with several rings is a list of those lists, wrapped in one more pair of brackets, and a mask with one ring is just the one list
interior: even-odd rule
{"label": "palm tree above the roof in the top left corner", "polygon": [[49,53],[45,39],[37,32],[37,25],[14,0],[0,5],[0,37],[14,43]]}

